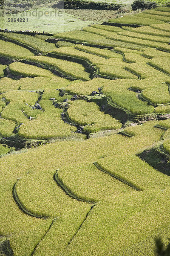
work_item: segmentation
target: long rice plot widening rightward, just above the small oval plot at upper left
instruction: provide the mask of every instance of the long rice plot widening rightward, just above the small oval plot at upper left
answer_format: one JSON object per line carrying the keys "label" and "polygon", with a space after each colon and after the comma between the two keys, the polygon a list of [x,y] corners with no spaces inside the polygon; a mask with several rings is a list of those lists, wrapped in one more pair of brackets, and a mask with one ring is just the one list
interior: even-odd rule
{"label": "long rice plot widening rightward, just above the small oval plot at upper left", "polygon": [[[61,48],[62,49],[62,48]],[[62,59],[51,58],[46,56],[34,56],[28,58],[30,61],[46,64],[52,67],[57,68],[68,76],[75,77],[84,81],[89,80],[89,73],[85,71],[85,67],[81,64],[65,61]],[[48,71],[49,72],[49,71]]]}

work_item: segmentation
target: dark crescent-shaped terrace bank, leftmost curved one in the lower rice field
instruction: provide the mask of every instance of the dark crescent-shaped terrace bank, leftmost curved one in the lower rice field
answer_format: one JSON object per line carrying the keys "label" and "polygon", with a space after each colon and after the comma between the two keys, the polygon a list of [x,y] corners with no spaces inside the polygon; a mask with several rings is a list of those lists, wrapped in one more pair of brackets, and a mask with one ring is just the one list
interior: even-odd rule
{"label": "dark crescent-shaped terrace bank, leftmost curved one in the lower rice field", "polygon": [[18,183],[18,180],[16,181],[16,183],[14,183],[12,194],[13,194],[14,201],[17,204],[17,206],[20,208],[20,210],[23,211],[24,213],[26,213],[27,215],[35,217],[35,218],[43,218],[43,219],[48,218],[47,216],[45,217],[42,215],[35,215],[34,213],[31,213],[23,206],[23,204],[20,201],[20,198],[17,195],[17,183]]}

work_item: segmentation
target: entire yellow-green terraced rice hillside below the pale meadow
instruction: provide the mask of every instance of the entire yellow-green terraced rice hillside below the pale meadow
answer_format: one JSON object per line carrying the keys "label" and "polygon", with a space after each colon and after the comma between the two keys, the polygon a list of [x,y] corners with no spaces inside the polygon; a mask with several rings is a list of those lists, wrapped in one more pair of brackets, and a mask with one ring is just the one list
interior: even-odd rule
{"label": "entire yellow-green terraced rice hillside below the pale meadow", "polygon": [[156,237],[169,243],[169,13],[50,40],[0,33],[0,255],[156,256]]}

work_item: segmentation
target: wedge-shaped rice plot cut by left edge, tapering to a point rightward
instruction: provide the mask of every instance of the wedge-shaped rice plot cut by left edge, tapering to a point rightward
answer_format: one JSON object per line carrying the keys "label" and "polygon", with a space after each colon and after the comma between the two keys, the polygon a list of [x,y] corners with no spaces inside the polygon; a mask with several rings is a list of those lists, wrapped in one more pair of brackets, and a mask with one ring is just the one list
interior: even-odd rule
{"label": "wedge-shaped rice plot cut by left edge, tapering to a point rightward", "polygon": [[32,56],[34,54],[19,45],[0,40],[0,55],[9,58],[23,59],[26,58],[26,56]]}

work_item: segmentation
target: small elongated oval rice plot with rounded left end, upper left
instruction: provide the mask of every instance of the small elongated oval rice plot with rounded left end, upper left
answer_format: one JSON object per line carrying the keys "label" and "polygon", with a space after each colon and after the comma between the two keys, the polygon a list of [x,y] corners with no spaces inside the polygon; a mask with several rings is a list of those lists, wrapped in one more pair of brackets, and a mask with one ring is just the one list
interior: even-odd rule
{"label": "small elongated oval rice plot with rounded left end, upper left", "polygon": [[22,62],[13,62],[9,65],[9,70],[11,73],[18,74],[21,76],[28,76],[28,77],[49,77],[52,78],[54,75],[45,69],[40,67],[36,67],[34,65],[24,64]]}

